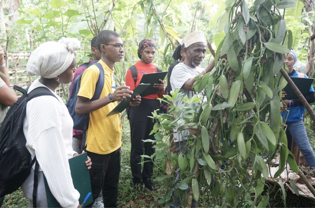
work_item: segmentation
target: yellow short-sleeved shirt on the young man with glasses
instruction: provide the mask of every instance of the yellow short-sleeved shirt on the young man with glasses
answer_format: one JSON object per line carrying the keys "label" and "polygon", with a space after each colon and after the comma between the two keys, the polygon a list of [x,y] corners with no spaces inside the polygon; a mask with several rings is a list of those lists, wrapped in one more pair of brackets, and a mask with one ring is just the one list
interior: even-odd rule
{"label": "yellow short-sleeved shirt on the young man with glasses", "polygon": [[[113,93],[115,86],[114,70],[111,70],[102,60],[100,63],[104,69],[104,88],[100,98]],[[95,92],[95,85],[100,70],[92,65],[83,72],[79,96],[91,99]],[[121,147],[122,125],[120,114],[106,117],[117,106],[117,102],[109,103],[106,106],[90,112],[89,129],[86,134],[87,151],[105,155],[114,152]]]}

